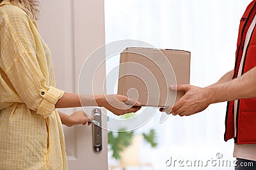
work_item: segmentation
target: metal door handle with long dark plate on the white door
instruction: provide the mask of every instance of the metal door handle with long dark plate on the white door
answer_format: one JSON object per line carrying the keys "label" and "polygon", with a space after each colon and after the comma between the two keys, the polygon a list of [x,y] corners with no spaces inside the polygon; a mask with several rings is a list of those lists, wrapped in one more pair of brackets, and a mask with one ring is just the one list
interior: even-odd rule
{"label": "metal door handle with long dark plate on the white door", "polygon": [[92,115],[93,151],[99,153],[102,150],[101,110],[99,108],[93,109]]}

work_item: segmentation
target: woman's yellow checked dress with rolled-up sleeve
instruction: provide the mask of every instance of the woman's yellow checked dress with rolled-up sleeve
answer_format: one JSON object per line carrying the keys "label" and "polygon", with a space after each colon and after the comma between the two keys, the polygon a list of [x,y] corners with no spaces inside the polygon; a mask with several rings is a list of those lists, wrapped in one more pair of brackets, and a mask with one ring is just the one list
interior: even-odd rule
{"label": "woman's yellow checked dress with rolled-up sleeve", "polygon": [[36,23],[0,4],[0,169],[67,169],[51,54]]}

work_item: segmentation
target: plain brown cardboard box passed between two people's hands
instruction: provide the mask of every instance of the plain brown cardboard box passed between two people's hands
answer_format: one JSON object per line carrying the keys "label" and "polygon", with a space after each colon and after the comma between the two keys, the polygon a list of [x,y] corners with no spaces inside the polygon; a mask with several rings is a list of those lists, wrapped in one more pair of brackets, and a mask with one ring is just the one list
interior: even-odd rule
{"label": "plain brown cardboard box passed between two people's hands", "polygon": [[118,94],[138,99],[141,106],[166,108],[184,92],[170,85],[189,84],[191,53],[129,47],[120,55]]}

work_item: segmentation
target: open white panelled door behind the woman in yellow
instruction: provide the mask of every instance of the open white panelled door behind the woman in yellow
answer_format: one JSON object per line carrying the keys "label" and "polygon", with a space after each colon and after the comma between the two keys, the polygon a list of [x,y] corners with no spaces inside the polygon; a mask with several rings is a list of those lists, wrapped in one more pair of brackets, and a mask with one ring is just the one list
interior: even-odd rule
{"label": "open white panelled door behind the woman in yellow", "polygon": [[[51,49],[56,85],[59,89],[77,93],[84,60],[105,43],[104,0],[44,0],[40,3],[38,27]],[[102,71],[100,74],[99,81],[103,81],[106,73]],[[100,87],[93,90],[103,92]],[[86,112],[90,114],[92,109],[86,108]],[[70,114],[74,109],[61,111]],[[104,118],[102,124],[106,121]],[[102,130],[102,150],[95,153],[92,127],[78,125],[64,126],[63,129],[69,169],[108,169],[107,131]]]}

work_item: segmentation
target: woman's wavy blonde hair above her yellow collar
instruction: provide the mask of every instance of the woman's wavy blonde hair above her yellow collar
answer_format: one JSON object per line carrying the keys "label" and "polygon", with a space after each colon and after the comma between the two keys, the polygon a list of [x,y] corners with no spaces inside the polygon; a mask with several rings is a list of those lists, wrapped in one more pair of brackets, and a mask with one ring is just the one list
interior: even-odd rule
{"label": "woman's wavy blonde hair above her yellow collar", "polygon": [[[0,0],[0,3],[2,3],[4,0]],[[29,17],[33,18],[34,20],[37,20],[39,17],[39,8],[40,3],[38,0],[9,0],[10,3],[19,6],[22,10],[26,11],[26,13],[29,15]]]}

